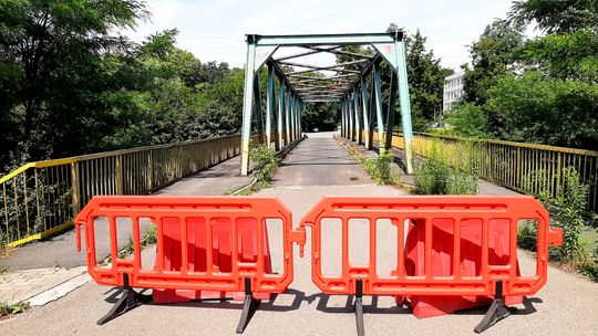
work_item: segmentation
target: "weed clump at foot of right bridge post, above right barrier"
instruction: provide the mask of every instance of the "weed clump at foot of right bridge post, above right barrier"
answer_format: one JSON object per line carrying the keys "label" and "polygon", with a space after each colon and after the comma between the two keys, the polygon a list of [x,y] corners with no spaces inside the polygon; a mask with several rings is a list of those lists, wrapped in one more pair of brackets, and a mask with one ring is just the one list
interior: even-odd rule
{"label": "weed clump at foot of right bridge post, above right barrier", "polygon": [[[466,151],[464,153],[467,154]],[[465,158],[451,166],[447,153],[440,143],[434,143],[425,158],[416,165],[414,193],[419,195],[476,195],[477,176]]]}

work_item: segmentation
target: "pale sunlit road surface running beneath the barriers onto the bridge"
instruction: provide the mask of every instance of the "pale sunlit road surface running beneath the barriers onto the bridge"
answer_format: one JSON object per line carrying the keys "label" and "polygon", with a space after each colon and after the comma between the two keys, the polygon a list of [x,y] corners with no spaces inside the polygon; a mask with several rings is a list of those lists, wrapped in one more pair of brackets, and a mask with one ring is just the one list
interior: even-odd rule
{"label": "pale sunlit road surface running beneath the barriers onto the bridge", "polygon": [[[331,162],[330,166],[338,160],[338,165],[347,169],[347,176],[363,175],[359,166],[341,164],[344,158],[338,154],[342,147],[338,145],[337,150],[330,139],[321,140],[329,156],[318,154],[324,153],[318,151],[319,141],[317,138],[308,139],[288,160],[297,162],[299,156],[295,154],[303,157],[317,154],[320,156],[318,161]],[[283,166],[275,187],[255,195],[278,197],[292,211],[295,224],[322,196],[401,195],[398,189],[375,186],[371,180],[363,179],[360,186],[351,186],[353,181],[350,179],[331,179],[324,170],[318,176],[320,170],[311,165],[299,166],[302,168]],[[305,180],[331,182],[293,185],[285,177],[290,172],[303,176]],[[280,232],[272,230],[269,234],[276,237]],[[363,238],[363,232],[358,232],[357,239],[360,238]],[[295,281],[288,293],[278,295],[271,302],[262,302],[244,335],[355,335],[352,298],[323,295],[311,283],[309,241],[310,234],[306,258],[300,259],[298,250],[295,251]],[[338,246],[328,248],[328,253],[338,258]],[[272,259],[279,259],[277,249],[272,246],[271,250]],[[361,252],[357,251],[357,254]],[[520,260],[524,265],[532,262],[527,253],[523,253]],[[106,325],[97,326],[95,321],[111,308],[114,293],[109,287],[90,283],[58,302],[0,322],[0,335],[235,335],[240,317],[241,304],[238,302],[143,305]],[[533,297],[534,308],[507,317],[484,335],[596,335],[597,298],[596,283],[550,266],[547,285]],[[473,327],[484,314],[484,309],[478,309],[417,319],[406,308],[395,306],[391,297],[372,300],[368,296],[364,297],[364,312],[367,335],[475,335]]]}

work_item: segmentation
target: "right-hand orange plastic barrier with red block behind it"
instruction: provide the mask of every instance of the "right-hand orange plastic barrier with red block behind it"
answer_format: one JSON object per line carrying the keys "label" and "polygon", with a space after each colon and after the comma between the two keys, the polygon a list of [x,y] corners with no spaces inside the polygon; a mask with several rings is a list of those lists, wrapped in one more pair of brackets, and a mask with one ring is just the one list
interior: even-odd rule
{"label": "right-hand orange plastic barrier with red block behind it", "polygon": [[[341,227],[338,274],[322,270],[329,254],[338,254],[322,249],[322,233],[328,234],[332,222]],[[395,246],[385,246],[392,253],[379,256],[383,222],[394,228]],[[536,265],[533,274],[522,274],[517,232],[528,223],[537,225]],[[526,196],[326,197],[301,220],[301,228],[307,227],[312,281],[326,294],[355,295],[359,335],[364,334],[362,295],[406,300],[420,317],[491,303],[474,328],[481,333],[509,315],[506,304],[542,288],[548,245],[563,242],[563,231],[549,227],[546,209]],[[357,227],[367,233],[350,239]],[[350,261],[355,245],[368,252],[361,263]],[[391,254],[395,265],[382,274],[379,263]]]}

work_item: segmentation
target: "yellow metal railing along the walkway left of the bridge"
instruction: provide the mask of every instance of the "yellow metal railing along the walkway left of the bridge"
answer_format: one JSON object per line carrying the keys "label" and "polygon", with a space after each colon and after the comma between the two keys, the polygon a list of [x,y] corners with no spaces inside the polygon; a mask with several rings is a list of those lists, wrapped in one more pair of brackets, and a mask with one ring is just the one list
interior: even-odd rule
{"label": "yellow metal railing along the walkway left of the bridge", "polygon": [[94,195],[150,193],[239,155],[239,145],[237,134],[27,164],[0,178],[0,244],[68,229]]}

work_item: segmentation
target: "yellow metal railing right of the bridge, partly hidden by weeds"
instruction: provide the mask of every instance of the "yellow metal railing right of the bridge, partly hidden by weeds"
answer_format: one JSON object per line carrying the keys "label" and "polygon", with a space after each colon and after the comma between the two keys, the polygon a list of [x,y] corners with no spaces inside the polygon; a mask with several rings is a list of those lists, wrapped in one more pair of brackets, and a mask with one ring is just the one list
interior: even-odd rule
{"label": "yellow metal railing right of the bridge, partly hidden by weeds", "polygon": [[[586,210],[598,212],[598,151],[426,133],[413,135],[413,151],[425,157],[439,141],[451,164],[466,162],[474,167],[481,178],[520,192],[557,196],[565,187],[564,170],[575,168],[590,187]],[[403,149],[402,135],[394,134],[392,144]],[[538,172],[546,178],[530,179],[532,175]]]}

